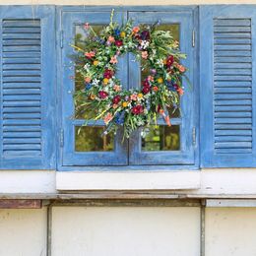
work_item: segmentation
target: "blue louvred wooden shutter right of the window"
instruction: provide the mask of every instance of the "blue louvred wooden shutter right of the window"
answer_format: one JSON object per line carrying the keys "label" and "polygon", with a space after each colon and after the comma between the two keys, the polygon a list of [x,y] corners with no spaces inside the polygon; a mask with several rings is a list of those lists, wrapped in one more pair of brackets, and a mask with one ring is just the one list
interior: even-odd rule
{"label": "blue louvred wooden shutter right of the window", "polygon": [[256,166],[256,8],[200,7],[201,166]]}

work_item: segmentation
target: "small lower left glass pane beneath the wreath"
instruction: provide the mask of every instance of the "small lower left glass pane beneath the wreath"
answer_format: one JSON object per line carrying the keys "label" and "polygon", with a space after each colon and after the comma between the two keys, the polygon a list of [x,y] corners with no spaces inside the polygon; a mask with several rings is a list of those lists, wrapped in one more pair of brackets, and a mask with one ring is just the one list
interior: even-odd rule
{"label": "small lower left glass pane beneath the wreath", "polygon": [[113,133],[103,135],[104,128],[100,126],[76,126],[76,152],[109,152],[114,149]]}

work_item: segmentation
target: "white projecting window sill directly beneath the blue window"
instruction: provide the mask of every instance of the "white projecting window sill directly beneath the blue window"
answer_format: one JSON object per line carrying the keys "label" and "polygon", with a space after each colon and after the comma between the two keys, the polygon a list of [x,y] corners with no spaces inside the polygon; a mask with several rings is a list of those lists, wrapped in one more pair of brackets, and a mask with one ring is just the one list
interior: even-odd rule
{"label": "white projecting window sill directly beneath the blue window", "polygon": [[57,171],[56,189],[191,190],[200,188],[200,171]]}

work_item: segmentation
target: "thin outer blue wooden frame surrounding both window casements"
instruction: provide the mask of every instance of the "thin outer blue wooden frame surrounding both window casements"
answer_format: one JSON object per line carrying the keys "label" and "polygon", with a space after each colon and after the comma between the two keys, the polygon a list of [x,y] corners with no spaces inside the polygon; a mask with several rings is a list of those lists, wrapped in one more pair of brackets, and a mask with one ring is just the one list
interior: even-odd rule
{"label": "thin outer blue wooden frame surrounding both window casements", "polygon": [[[193,16],[193,34],[189,34],[189,36],[191,36],[192,40],[197,41],[197,37],[198,37],[198,6],[161,6],[161,7],[156,7],[156,6],[152,6],[152,7],[146,7],[146,6],[138,6],[138,7],[116,7],[116,6],[109,6],[109,7],[102,7],[102,6],[87,6],[85,7],[85,12],[107,12],[108,14],[110,13],[110,11],[114,9],[115,12],[125,12],[126,14],[128,14],[129,12],[175,12],[175,13],[184,13],[184,12],[190,12]],[[63,28],[62,28],[62,22],[63,22],[63,14],[69,12],[69,13],[78,13],[81,12],[81,7],[79,6],[62,6],[62,7],[57,7],[57,40],[58,40],[58,72],[57,72],[57,81],[60,83],[58,85],[58,96],[59,96],[59,100],[58,100],[58,128],[59,128],[59,145],[58,145],[58,166],[57,169],[58,170],[134,170],[134,169],[140,169],[140,170],[148,170],[148,169],[152,169],[152,170],[156,170],[156,169],[169,169],[169,170],[175,170],[175,169],[198,169],[198,155],[199,155],[199,150],[198,150],[198,129],[195,129],[195,131],[193,131],[193,136],[195,139],[194,142],[194,163],[192,164],[177,164],[177,163],[167,163],[163,162],[163,163],[153,163],[150,162],[148,164],[131,164],[131,163],[127,163],[127,165],[121,166],[115,166],[115,165],[106,165],[106,164],[102,164],[103,166],[97,166],[96,164],[89,164],[89,165],[64,165],[63,164],[63,136],[64,136],[64,129],[65,127],[62,124],[62,120],[61,120],[61,116],[62,116],[62,105],[61,105],[61,100],[62,100],[62,87],[64,86],[61,82],[61,77],[62,77],[62,73],[60,72],[61,70],[61,58],[63,57]],[[64,29],[65,30],[65,29]],[[65,35],[64,35],[65,36]],[[191,47],[193,47],[193,45],[191,45]],[[193,81],[191,81],[192,85],[195,85],[195,89],[196,91],[198,90],[197,86],[198,85],[198,70],[197,70],[197,63],[198,63],[198,45],[196,44],[194,46],[194,52],[195,55],[193,57],[193,66],[194,66],[194,70],[193,70]],[[195,117],[194,117],[194,125],[195,127],[199,127],[199,114],[198,114],[198,109],[199,109],[199,104],[196,103],[199,101],[199,96],[198,94],[194,94],[195,99],[194,99],[194,111],[195,111]],[[195,134],[194,134],[195,133]],[[67,139],[65,138],[65,143],[69,143],[69,141],[66,141]],[[94,153],[93,153],[94,154]],[[127,151],[127,155],[129,155],[129,151]],[[150,165],[149,165],[150,164]]]}

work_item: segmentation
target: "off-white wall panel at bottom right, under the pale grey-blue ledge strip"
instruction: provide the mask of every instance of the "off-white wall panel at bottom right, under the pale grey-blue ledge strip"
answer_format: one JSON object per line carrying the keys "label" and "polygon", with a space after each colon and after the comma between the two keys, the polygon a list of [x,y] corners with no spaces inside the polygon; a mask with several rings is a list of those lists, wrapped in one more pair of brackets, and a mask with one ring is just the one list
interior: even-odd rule
{"label": "off-white wall panel at bottom right, under the pale grey-blue ledge strip", "polygon": [[206,256],[255,255],[255,208],[206,210]]}

